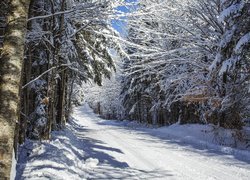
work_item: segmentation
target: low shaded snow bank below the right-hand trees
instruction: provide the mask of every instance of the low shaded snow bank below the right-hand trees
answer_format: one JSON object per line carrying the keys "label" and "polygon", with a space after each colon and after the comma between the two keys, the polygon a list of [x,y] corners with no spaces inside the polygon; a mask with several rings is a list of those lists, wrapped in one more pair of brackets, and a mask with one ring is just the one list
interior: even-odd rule
{"label": "low shaded snow bank below the right-hand trees", "polygon": [[[154,136],[159,137],[171,137],[173,139],[183,141],[185,143],[197,144],[204,147],[210,147],[220,151],[231,151],[231,152],[241,152],[242,154],[249,155],[250,153],[246,151],[250,150],[249,144],[246,141],[241,141],[237,137],[235,130],[224,129],[221,127],[215,127],[212,124],[202,125],[202,124],[184,124],[180,125],[178,123],[173,124],[168,127],[157,127],[154,125],[141,124],[135,121],[103,121],[107,125],[118,125],[126,126],[131,129],[137,129],[141,131],[146,131]],[[243,136],[250,137],[249,128],[245,128],[241,131]],[[240,136],[240,135],[238,135]],[[243,137],[244,138],[244,137]]]}

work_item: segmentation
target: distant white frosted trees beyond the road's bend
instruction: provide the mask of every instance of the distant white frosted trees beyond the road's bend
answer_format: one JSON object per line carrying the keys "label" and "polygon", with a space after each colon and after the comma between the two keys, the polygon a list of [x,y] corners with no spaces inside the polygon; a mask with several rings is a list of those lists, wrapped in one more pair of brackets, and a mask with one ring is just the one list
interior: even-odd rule
{"label": "distant white frosted trees beyond the road's bend", "polygon": [[121,60],[115,57],[116,72],[110,79],[104,79],[102,86],[94,83],[84,85],[84,100],[97,114],[105,119],[124,119],[124,108],[120,100],[121,93]]}

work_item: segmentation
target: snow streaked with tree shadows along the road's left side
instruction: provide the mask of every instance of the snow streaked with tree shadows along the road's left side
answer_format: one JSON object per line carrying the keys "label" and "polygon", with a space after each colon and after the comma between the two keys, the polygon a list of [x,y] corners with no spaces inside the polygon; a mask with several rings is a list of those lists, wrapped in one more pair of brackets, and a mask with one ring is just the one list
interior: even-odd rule
{"label": "snow streaked with tree shadows along the road's left side", "polygon": [[[172,176],[161,170],[145,171],[129,167],[108,152],[123,154],[120,149],[84,136],[89,129],[72,119],[63,131],[53,132],[50,142],[26,142],[20,148],[16,180],[65,179],[164,179]],[[27,145],[28,143],[28,145]],[[98,159],[88,164],[88,159]]]}

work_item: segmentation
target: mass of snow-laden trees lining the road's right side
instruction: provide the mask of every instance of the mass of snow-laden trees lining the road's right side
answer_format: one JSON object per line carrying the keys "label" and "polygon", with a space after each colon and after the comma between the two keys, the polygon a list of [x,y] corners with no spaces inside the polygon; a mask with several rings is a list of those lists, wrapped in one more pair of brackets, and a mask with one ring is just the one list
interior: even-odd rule
{"label": "mass of snow-laden trees lining the road's right side", "polygon": [[249,2],[141,0],[136,14],[118,81],[125,118],[240,129],[249,118]]}

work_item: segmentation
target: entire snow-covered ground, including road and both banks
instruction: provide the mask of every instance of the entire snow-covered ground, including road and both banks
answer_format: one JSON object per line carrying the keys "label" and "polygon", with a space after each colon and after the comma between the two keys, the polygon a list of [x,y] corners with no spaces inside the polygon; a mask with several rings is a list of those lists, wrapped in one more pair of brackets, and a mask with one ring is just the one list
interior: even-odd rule
{"label": "entire snow-covered ground, including road and both banks", "polygon": [[[250,152],[213,144],[211,128],[146,128],[102,120],[84,105],[50,142],[20,148],[19,179],[250,179]],[[221,142],[224,142],[222,140]]]}

